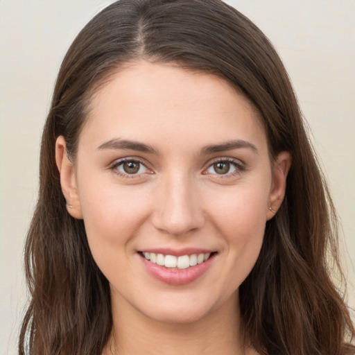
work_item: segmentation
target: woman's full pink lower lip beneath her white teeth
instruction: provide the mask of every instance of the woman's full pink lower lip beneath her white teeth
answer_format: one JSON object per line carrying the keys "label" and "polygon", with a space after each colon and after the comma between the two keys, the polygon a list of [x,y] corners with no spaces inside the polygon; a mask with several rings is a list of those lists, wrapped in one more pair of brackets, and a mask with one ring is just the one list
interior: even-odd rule
{"label": "woman's full pink lower lip beneath her white teeth", "polygon": [[150,275],[155,277],[155,279],[158,279],[159,281],[164,282],[165,284],[178,286],[189,284],[201,277],[205,272],[207,272],[207,270],[213,263],[216,254],[212,254],[211,257],[209,257],[209,259],[207,259],[203,263],[199,263],[195,266],[190,266],[189,268],[181,270],[166,268],[165,266],[160,266],[156,263],[151,263],[141,255],[139,255],[139,257],[143,261],[146,270],[150,273]]}

